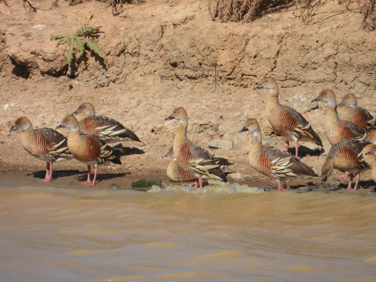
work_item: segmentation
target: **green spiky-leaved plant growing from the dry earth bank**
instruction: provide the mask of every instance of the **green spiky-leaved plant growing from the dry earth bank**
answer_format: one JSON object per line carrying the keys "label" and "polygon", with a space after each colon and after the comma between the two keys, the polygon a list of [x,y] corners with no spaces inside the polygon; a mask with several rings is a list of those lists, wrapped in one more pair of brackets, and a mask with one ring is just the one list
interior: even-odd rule
{"label": "green spiky-leaved plant growing from the dry earth bank", "polygon": [[93,18],[93,15],[91,15],[89,19],[85,21],[85,23],[72,35],[64,35],[64,34],[51,35],[50,40],[59,39],[58,43],[56,44],[56,47],[64,43],[67,43],[69,45],[67,62],[66,62],[67,65],[74,58],[74,49],[77,48],[78,52],[80,53],[80,56],[82,56],[83,50],[85,49],[85,45],[92,52],[96,53],[98,56],[103,58],[102,51],[98,47],[97,43],[88,38],[89,36],[92,36],[93,34],[98,33],[99,29],[102,27],[102,26],[96,26],[96,27],[88,26],[89,21],[92,18]]}

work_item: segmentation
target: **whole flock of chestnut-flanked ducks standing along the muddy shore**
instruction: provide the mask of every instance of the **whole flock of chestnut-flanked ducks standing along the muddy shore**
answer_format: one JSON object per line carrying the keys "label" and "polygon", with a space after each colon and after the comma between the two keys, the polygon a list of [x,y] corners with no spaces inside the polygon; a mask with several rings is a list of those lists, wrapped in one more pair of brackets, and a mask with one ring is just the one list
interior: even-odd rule
{"label": "whole flock of chestnut-flanked ducks standing along the muddy shore", "polygon": [[[305,163],[298,159],[299,141],[311,141],[323,146],[320,137],[311,123],[298,111],[278,102],[278,85],[272,77],[265,77],[255,89],[268,89],[266,105],[267,118],[271,127],[286,141],[285,151],[265,148],[262,145],[262,133],[258,121],[251,118],[246,121],[240,132],[252,135],[249,163],[259,173],[270,177],[278,183],[278,191],[286,191],[288,180],[299,176],[318,177]],[[332,148],[321,168],[321,185],[333,170],[340,170],[344,175],[335,180],[349,179],[348,190],[356,190],[360,173],[372,169],[376,182],[376,124],[375,118],[364,108],[357,106],[354,94],[346,94],[337,105],[334,92],[324,89],[312,102],[325,102],[327,105],[325,130]],[[341,108],[341,120],[337,108]],[[81,115],[77,115],[81,114]],[[79,118],[77,120],[76,118]],[[227,182],[224,168],[231,163],[224,158],[212,156],[199,144],[187,137],[188,114],[184,108],[173,110],[166,120],[179,121],[179,128],[173,146],[164,157],[174,156],[167,168],[167,176],[175,182],[194,181],[196,188],[203,187],[203,179],[217,179]],[[38,181],[51,181],[53,163],[76,158],[88,166],[88,178],[82,185],[96,185],[98,166],[107,163],[121,164],[117,151],[108,145],[120,141],[141,142],[132,130],[112,118],[96,115],[91,103],[83,103],[71,115],[62,119],[56,127],[68,127],[70,133],[65,138],[51,128],[33,129],[30,120],[22,116],[17,118],[9,132],[21,130],[21,143],[33,157],[45,161],[47,170],[45,178]],[[295,156],[288,153],[289,142],[295,141]],[[163,158],[163,157],[162,157]],[[91,179],[91,166],[94,177]],[[355,186],[352,188],[353,178]]]}

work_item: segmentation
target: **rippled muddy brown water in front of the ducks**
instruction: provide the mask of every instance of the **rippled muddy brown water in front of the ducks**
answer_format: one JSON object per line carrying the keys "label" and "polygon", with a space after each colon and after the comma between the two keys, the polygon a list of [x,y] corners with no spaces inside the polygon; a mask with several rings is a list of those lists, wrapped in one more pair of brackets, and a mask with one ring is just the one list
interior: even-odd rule
{"label": "rippled muddy brown water in front of the ducks", "polygon": [[5,177],[0,280],[374,281],[375,197],[370,189],[278,193],[232,183],[142,192]]}

